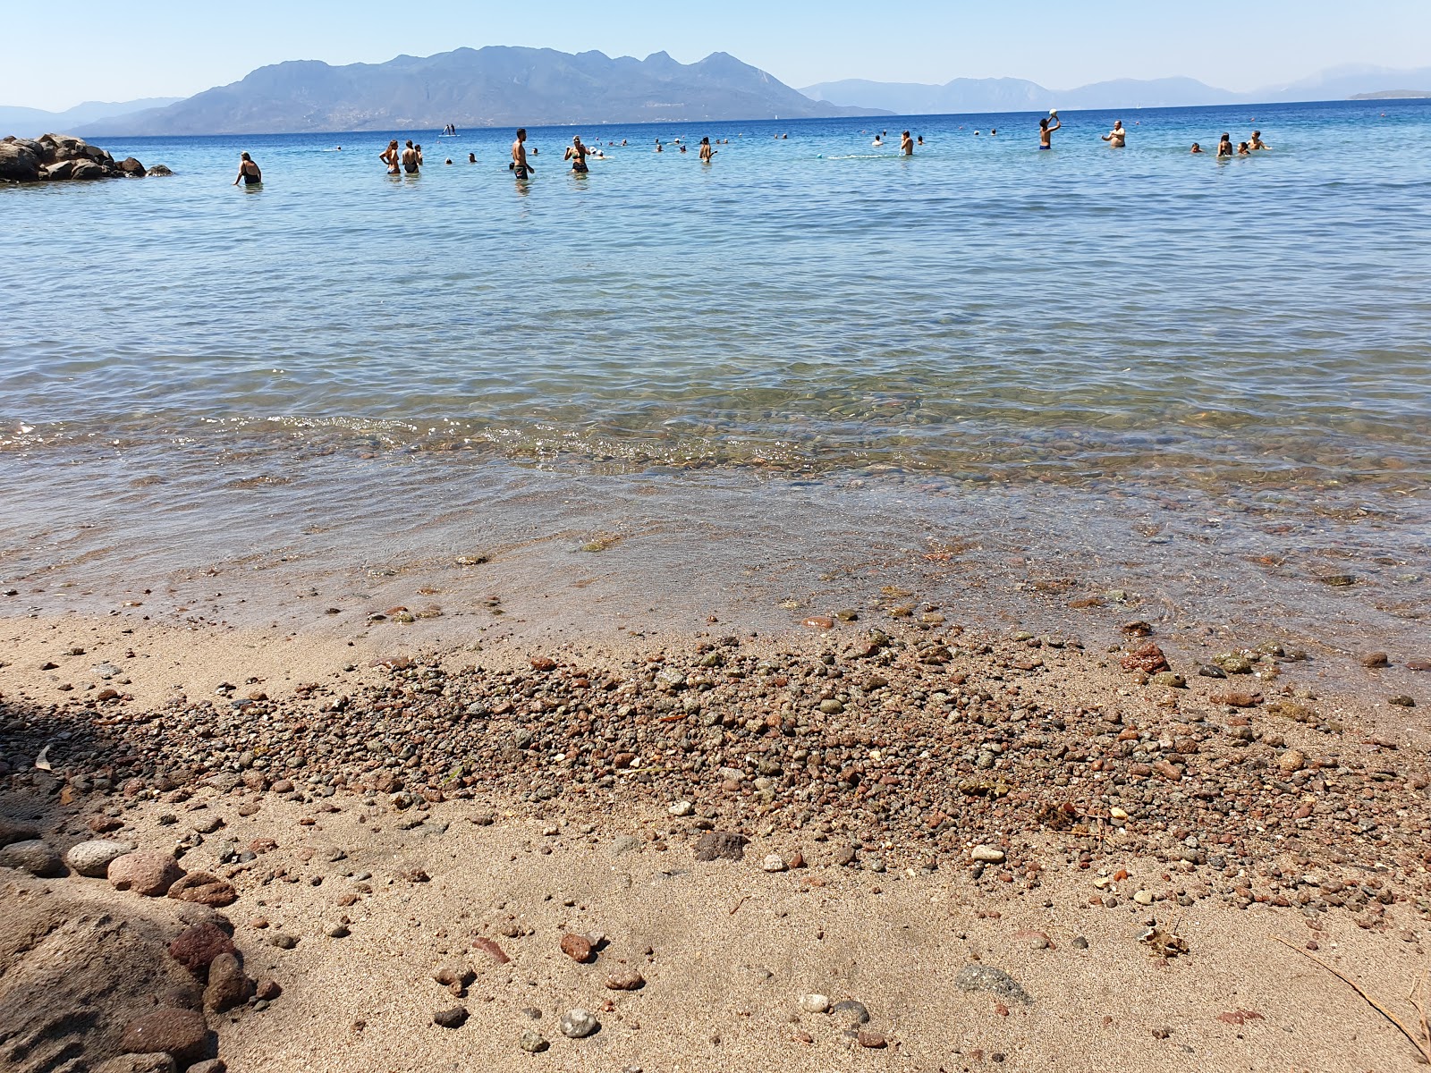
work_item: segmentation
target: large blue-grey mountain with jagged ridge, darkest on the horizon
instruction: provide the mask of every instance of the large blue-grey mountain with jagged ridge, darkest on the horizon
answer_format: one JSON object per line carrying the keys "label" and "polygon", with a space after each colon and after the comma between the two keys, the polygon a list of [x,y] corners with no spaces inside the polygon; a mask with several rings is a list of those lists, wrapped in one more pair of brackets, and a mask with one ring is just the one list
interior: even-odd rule
{"label": "large blue-grey mountain with jagged ridge, darkest on the horizon", "polygon": [[635,60],[491,46],[343,67],[279,63],[82,133],[258,134],[860,114],[873,113],[810,100],[723,52],[681,64],[664,52]]}

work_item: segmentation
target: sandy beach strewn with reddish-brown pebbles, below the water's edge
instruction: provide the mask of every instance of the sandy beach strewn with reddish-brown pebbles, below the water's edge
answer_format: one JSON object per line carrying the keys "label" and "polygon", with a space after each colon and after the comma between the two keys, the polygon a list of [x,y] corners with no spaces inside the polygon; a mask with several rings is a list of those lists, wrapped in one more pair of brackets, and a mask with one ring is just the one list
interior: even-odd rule
{"label": "sandy beach strewn with reddish-brown pebbles, below the water's edge", "polygon": [[[766,632],[562,634],[570,607],[495,631],[396,607],[240,629],[146,621],[143,599],[7,618],[0,860],[21,867],[0,871],[0,1054],[27,1073],[1417,1063],[1305,954],[1417,1030],[1428,735],[1379,675],[1420,681],[1418,654],[1329,688],[1327,658],[1275,637],[1199,651],[1126,608],[1080,638],[912,601]],[[176,854],[177,896],[54,860],[99,838]],[[206,924],[235,954],[186,970],[169,944]],[[160,1039],[177,1064],[120,1057],[137,1020],[182,1009],[207,1034]],[[574,1010],[590,1034],[564,1033]]]}

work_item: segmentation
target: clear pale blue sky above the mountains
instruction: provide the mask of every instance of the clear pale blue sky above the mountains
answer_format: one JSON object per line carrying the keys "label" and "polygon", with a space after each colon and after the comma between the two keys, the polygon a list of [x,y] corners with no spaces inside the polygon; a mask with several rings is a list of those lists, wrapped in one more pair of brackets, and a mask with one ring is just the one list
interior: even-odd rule
{"label": "clear pale blue sky above the mountains", "polygon": [[52,110],[187,96],[282,60],[482,44],[728,52],[797,87],[1186,74],[1251,90],[1344,63],[1428,66],[1431,0],[0,0],[0,104]]}

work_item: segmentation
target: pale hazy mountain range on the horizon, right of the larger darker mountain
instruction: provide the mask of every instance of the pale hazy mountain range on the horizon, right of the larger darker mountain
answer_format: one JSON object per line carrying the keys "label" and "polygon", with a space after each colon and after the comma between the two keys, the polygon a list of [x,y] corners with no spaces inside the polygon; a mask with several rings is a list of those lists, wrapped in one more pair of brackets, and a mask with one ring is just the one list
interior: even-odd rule
{"label": "pale hazy mountain range on the horizon, right of the larger darker mountain", "polygon": [[1045,89],[1023,79],[954,79],[943,86],[846,79],[806,86],[801,93],[831,104],[860,103],[902,116],[1060,109],[1188,107],[1195,104],[1268,104],[1299,100],[1347,100],[1387,86],[1431,86],[1431,67],[1332,67],[1301,82],[1251,93],[1216,89],[1196,79],[1116,79],[1070,90]]}

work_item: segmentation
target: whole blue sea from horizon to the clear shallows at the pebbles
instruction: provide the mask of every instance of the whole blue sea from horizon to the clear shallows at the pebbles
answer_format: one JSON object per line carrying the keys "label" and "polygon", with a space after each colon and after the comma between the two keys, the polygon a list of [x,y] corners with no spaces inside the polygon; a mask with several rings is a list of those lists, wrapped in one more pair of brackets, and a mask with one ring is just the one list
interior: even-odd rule
{"label": "whole blue sea from horizon to the clear shallows at the pebbles", "polygon": [[1037,119],[97,139],[0,189],[0,614],[1431,648],[1431,102]]}

